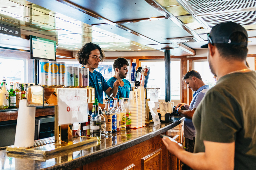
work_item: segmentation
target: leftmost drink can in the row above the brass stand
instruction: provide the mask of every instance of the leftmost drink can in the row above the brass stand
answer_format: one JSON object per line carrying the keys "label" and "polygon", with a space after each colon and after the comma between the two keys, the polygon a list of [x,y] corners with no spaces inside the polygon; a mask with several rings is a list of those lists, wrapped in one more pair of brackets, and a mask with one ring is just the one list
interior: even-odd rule
{"label": "leftmost drink can in the row above the brass stand", "polygon": [[47,86],[49,80],[49,60],[39,60],[39,85]]}

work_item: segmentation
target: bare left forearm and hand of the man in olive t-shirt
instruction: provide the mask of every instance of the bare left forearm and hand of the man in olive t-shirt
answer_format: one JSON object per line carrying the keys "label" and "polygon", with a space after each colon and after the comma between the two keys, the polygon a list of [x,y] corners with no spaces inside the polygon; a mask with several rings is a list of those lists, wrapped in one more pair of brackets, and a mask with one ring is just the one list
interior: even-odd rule
{"label": "bare left forearm and hand of the man in olive t-shirt", "polygon": [[233,170],[235,142],[204,141],[205,152],[190,153],[168,137],[163,138],[167,149],[182,162],[195,170]]}

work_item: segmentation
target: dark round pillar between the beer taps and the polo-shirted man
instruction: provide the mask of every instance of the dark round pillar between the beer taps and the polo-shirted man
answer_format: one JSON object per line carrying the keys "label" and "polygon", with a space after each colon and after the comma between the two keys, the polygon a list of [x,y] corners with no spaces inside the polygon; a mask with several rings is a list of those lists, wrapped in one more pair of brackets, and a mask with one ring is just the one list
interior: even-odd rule
{"label": "dark round pillar between the beer taps and the polo-shirted man", "polygon": [[171,47],[164,49],[164,70],[165,70],[165,101],[171,101]]}

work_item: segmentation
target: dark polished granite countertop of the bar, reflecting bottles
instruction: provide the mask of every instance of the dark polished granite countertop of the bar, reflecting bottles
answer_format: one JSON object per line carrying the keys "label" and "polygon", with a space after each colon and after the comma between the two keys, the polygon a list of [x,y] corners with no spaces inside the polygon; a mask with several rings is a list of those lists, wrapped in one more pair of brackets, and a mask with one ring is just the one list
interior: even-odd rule
{"label": "dark polished granite countertop of the bar, reflecting bottles", "polygon": [[95,142],[90,148],[84,149],[80,147],[74,150],[67,150],[65,153],[54,155],[54,158],[42,161],[25,158],[24,156],[8,157],[6,150],[1,150],[1,166],[5,170],[73,170],[164,133],[183,121],[184,118],[174,117],[174,121],[171,123],[161,123],[157,126],[149,125],[143,128],[121,131],[121,133],[102,138],[101,142]]}

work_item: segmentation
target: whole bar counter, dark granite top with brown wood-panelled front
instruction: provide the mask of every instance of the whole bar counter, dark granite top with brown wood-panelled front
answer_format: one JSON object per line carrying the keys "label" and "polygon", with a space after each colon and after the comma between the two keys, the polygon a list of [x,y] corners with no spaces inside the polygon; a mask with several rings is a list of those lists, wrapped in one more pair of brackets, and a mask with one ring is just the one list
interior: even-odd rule
{"label": "whole bar counter, dark granite top with brown wood-panelled front", "polygon": [[[55,169],[124,169],[128,167],[128,164],[131,164],[133,168],[126,169],[140,169],[138,166],[142,166],[139,162],[136,163],[135,158],[145,157],[144,155],[152,155],[149,151],[152,151],[153,155],[160,154],[159,157],[159,169],[172,169],[172,165],[167,165],[168,162],[171,162],[170,155],[168,156],[166,152],[166,147],[163,145],[159,134],[166,134],[171,137],[172,131],[173,135],[176,133],[179,134],[177,141],[180,141],[182,138],[182,128],[180,124],[184,122],[184,118],[174,117],[174,121],[171,123],[161,123],[160,125],[153,126],[153,124],[138,128],[126,130],[126,132],[117,133],[106,138],[101,139],[101,142],[94,143],[92,147],[84,149],[83,147],[76,148],[74,150],[67,150],[66,152],[61,152],[54,155],[53,158],[48,160],[33,160],[29,157],[20,156],[20,157],[8,157],[6,150],[0,150],[0,159],[2,169],[19,169],[19,170],[55,170]],[[176,129],[174,129],[176,127]],[[178,128],[177,128],[178,127]],[[173,130],[174,129],[174,130]],[[177,136],[177,135],[176,135]],[[148,144],[148,146],[147,146]],[[137,152],[138,148],[142,149]],[[144,149],[143,149],[144,148]],[[159,151],[160,148],[160,151]],[[127,154],[128,152],[131,152]],[[145,152],[145,153],[144,153]],[[148,154],[149,153],[149,154]],[[144,155],[143,155],[144,154]],[[170,154],[170,153],[169,153]],[[118,164],[118,157],[124,156],[125,159],[123,163]],[[134,156],[134,160],[132,157]],[[136,158],[136,159],[137,159]],[[113,159],[113,160],[112,160]],[[148,159],[147,157],[145,160]],[[163,160],[164,159],[164,160]],[[142,159],[140,158],[139,161]],[[143,159],[144,160],[144,159]],[[132,164],[132,162],[134,163]],[[109,162],[109,165],[106,165],[104,162]],[[121,161],[122,162],[122,161]],[[146,162],[146,161],[145,161]],[[177,163],[177,162],[176,162]],[[102,164],[102,165],[101,165]],[[179,163],[177,163],[179,164]],[[98,168],[92,168],[92,166],[98,166]],[[102,167],[106,166],[106,167]],[[144,165],[145,166],[145,165]],[[160,168],[160,166],[162,168]],[[145,168],[145,167],[144,167]],[[144,169],[143,168],[143,169]],[[177,168],[179,169],[179,168]]]}

